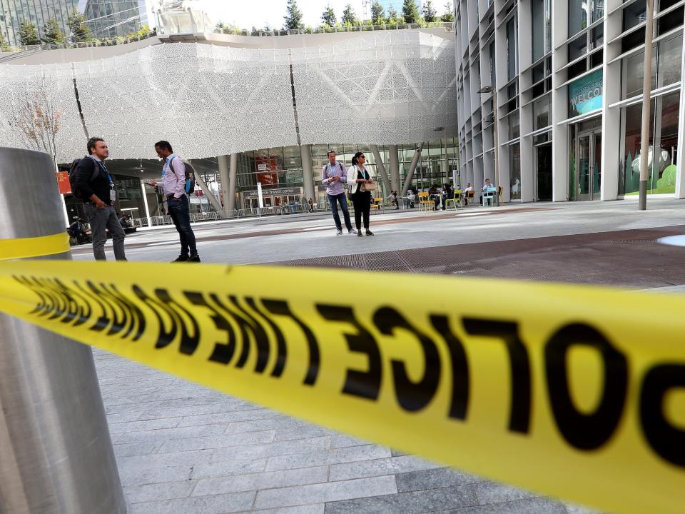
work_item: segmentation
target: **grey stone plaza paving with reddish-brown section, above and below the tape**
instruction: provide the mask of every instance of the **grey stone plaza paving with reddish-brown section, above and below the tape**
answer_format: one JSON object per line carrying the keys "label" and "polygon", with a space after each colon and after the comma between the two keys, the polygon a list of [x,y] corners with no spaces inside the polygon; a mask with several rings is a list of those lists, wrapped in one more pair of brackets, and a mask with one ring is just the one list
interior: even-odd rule
{"label": "grey stone plaza paving with reddish-brown section, above and below the tape", "polygon": [[[335,236],[330,213],[199,223],[205,263],[280,263],[599,283],[685,283],[685,204],[514,204],[372,216],[376,236]],[[173,228],[127,238],[131,261],[171,261]],[[111,242],[108,243],[111,251]],[[74,249],[90,260],[91,249]],[[111,253],[108,254],[112,258]],[[179,264],[178,266],[197,266]],[[379,276],[374,286],[392,288]],[[445,287],[452,283],[445,282]],[[303,284],[303,287],[312,287]],[[468,298],[468,292],[465,292]],[[350,438],[95,351],[131,514],[580,514],[588,510]],[[417,437],[421,437],[417,434]]]}

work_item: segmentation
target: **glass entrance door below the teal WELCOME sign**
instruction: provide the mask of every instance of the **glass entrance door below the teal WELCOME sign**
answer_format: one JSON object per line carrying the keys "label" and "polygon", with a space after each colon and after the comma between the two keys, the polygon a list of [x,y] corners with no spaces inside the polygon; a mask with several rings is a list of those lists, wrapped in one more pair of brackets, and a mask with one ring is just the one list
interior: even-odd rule
{"label": "glass entrance door below the teal WELCOME sign", "polygon": [[602,131],[592,129],[579,132],[575,140],[571,199],[599,200],[602,187]]}

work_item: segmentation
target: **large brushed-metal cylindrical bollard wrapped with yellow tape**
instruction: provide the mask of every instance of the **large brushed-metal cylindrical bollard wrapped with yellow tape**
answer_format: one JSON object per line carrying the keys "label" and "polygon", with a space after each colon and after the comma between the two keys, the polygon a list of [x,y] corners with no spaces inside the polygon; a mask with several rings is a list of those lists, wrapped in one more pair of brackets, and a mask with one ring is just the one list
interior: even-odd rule
{"label": "large brushed-metal cylindrical bollard wrapped with yellow tape", "polygon": [[[0,148],[0,176],[1,239],[65,231],[50,156]],[[0,514],[28,513],[124,514],[126,502],[91,349],[0,314]]]}

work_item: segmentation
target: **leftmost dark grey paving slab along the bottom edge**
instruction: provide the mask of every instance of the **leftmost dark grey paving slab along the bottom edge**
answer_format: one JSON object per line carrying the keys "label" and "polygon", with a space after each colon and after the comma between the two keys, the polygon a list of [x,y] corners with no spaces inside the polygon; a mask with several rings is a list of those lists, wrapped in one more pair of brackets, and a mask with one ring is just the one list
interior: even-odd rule
{"label": "leftmost dark grey paving slab along the bottom edge", "polygon": [[423,514],[451,507],[477,505],[478,498],[471,485],[440,488],[411,493],[376,495],[371,498],[337,501],[326,504],[326,514]]}

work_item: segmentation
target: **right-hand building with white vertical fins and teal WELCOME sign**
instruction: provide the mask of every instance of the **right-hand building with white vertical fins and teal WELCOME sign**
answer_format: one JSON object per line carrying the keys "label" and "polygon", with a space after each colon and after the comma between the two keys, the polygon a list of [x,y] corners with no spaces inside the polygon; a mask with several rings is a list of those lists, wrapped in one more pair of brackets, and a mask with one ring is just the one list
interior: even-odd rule
{"label": "right-hand building with white vertical fins and teal WELCOME sign", "polygon": [[[685,197],[683,2],[654,1],[648,193]],[[646,1],[462,0],[455,6],[462,176],[504,200],[639,191]],[[492,94],[497,90],[497,109]],[[494,148],[497,124],[499,148]]]}

